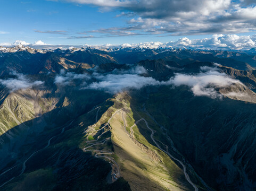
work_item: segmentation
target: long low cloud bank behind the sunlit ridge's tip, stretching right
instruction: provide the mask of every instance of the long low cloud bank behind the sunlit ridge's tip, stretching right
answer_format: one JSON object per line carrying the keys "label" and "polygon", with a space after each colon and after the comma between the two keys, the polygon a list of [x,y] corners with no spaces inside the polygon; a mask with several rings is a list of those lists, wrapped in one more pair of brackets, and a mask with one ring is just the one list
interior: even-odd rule
{"label": "long low cloud bank behind the sunlit ridge's tip, stretching right", "polygon": [[[218,92],[220,88],[226,88],[233,84],[243,85],[240,81],[234,80],[221,73],[216,67],[203,66],[201,72],[197,74],[176,73],[168,81],[158,81],[153,77],[145,77],[145,68],[138,66],[128,71],[113,71],[108,74],[94,72],[88,74],[63,73],[55,77],[55,84],[70,85],[75,79],[79,79],[80,89],[103,90],[109,93],[118,93],[129,89],[141,89],[148,85],[171,85],[188,86],[195,96],[207,96],[212,99],[221,98]],[[234,92],[235,93],[235,92]]]}

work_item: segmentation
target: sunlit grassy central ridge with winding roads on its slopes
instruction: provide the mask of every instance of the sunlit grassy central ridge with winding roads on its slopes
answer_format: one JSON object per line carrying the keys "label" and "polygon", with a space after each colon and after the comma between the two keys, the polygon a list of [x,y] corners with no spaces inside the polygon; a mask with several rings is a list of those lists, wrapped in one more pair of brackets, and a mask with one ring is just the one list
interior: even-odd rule
{"label": "sunlit grassy central ridge with winding roads on its slopes", "polygon": [[[134,138],[128,135],[123,127],[122,112],[125,118],[126,129],[130,134],[130,127],[136,120],[144,117],[152,128],[158,128],[154,121],[144,112],[131,109],[130,97],[127,93],[120,93],[111,101],[114,103],[104,112],[93,126],[100,129],[111,115],[119,111],[110,121],[111,142],[114,154],[112,157],[121,168],[121,176],[125,178],[132,190],[183,190],[190,189],[186,184],[183,172],[165,153],[153,145],[150,131],[143,121],[133,128]],[[143,131],[143,134],[141,133]],[[97,135],[94,133],[94,135]],[[92,136],[92,135],[90,135]],[[90,137],[89,136],[89,137]],[[97,136],[94,136],[96,138]],[[103,140],[106,137],[101,137]],[[109,150],[108,144],[95,145],[97,150]]]}

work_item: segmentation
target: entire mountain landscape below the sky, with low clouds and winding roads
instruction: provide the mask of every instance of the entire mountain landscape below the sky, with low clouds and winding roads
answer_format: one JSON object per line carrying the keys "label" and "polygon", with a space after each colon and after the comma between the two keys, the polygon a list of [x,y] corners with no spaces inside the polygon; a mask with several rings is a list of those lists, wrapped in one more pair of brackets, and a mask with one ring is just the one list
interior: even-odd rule
{"label": "entire mountain landscape below the sky, with low clouds and winding roads", "polygon": [[256,53],[0,47],[0,190],[255,190]]}

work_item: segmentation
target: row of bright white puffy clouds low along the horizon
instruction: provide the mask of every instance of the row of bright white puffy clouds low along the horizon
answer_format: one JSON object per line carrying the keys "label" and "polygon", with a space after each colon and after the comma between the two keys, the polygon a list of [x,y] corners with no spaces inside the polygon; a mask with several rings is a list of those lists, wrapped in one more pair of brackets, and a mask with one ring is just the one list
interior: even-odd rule
{"label": "row of bright white puffy clouds low along the horizon", "polygon": [[[74,37],[75,38],[75,37]],[[77,37],[76,37],[77,38]],[[79,37],[78,37],[79,38]],[[87,37],[86,37],[87,38]],[[88,36],[90,38],[90,36]],[[36,41],[34,44],[22,40],[16,40],[13,43],[5,42],[0,44],[3,47],[13,47],[22,44],[24,46],[30,46],[33,48],[44,49],[69,49],[71,45],[49,45],[41,40]],[[211,38],[203,39],[189,39],[183,37],[177,41],[170,42],[140,42],[137,44],[105,44],[105,45],[88,45],[85,44],[85,48],[97,48],[97,49],[113,49],[113,48],[194,48],[194,49],[222,49],[222,50],[248,50],[255,48],[256,46],[256,34],[251,36],[238,36],[236,34],[213,34]],[[80,48],[80,46],[72,46]]]}

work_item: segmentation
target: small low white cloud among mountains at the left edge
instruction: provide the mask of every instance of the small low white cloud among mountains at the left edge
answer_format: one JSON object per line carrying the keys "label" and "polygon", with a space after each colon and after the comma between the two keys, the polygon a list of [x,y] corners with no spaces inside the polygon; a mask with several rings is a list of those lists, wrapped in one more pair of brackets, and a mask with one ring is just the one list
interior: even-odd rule
{"label": "small low white cloud among mountains at the left edge", "polygon": [[44,84],[44,82],[42,81],[31,81],[24,74],[17,74],[17,73],[13,73],[13,74],[16,76],[16,78],[9,78],[6,80],[0,79],[0,84],[8,88],[11,92],[20,90],[20,89],[32,88],[34,86],[39,86]]}

